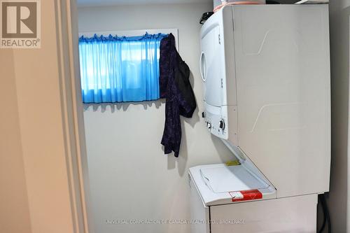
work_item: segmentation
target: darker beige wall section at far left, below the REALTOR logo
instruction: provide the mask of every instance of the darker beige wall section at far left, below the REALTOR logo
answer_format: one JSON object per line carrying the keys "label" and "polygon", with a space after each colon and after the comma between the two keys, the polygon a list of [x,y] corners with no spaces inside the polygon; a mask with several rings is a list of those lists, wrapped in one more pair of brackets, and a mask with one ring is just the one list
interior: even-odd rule
{"label": "darker beige wall section at far left, below the REALTOR logo", "polygon": [[0,232],[30,233],[13,51],[0,49]]}

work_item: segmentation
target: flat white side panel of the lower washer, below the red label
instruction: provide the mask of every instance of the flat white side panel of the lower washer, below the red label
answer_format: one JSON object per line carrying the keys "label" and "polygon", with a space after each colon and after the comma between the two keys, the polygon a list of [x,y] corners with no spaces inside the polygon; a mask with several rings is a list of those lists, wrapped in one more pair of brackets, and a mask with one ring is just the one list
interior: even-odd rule
{"label": "flat white side panel of the lower washer, below the red label", "polygon": [[211,206],[211,233],[316,233],[317,195]]}

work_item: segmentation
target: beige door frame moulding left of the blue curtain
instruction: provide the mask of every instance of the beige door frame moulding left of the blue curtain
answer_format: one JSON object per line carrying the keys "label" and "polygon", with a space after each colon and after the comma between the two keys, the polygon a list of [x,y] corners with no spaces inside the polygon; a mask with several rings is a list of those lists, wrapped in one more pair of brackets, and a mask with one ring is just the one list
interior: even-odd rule
{"label": "beige door frame moulding left of the blue curtain", "polygon": [[93,232],[80,87],[76,0],[55,0],[59,80],[73,232]]}

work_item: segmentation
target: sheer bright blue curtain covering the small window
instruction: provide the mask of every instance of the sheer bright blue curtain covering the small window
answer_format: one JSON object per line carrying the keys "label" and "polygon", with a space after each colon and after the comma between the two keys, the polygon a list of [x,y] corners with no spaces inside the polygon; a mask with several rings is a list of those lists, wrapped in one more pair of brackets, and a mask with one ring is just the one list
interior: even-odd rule
{"label": "sheer bright blue curtain covering the small window", "polygon": [[79,38],[84,103],[160,98],[160,41],[167,34]]}

